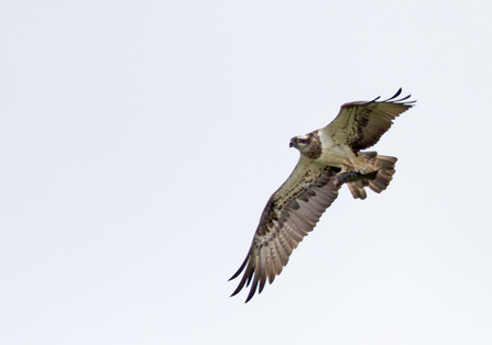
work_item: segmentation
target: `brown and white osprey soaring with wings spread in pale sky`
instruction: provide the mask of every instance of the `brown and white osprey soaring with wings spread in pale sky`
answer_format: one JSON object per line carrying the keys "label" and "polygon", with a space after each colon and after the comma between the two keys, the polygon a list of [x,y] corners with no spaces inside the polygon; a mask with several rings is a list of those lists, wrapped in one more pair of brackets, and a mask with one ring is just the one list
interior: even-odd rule
{"label": "brown and white osprey soaring with wings spread in pale sky", "polygon": [[396,158],[361,149],[378,143],[393,120],[415,105],[416,101],[407,101],[411,96],[398,99],[401,93],[402,89],[384,101],[378,97],[346,103],[326,127],[291,140],[289,146],[300,152],[300,158],[266,203],[250,251],[229,279],[244,270],[231,297],[251,283],[248,302],[256,289],[261,293],[266,280],[273,282],[343,183],[354,199],[365,199],[365,187],[376,193],[386,189]]}

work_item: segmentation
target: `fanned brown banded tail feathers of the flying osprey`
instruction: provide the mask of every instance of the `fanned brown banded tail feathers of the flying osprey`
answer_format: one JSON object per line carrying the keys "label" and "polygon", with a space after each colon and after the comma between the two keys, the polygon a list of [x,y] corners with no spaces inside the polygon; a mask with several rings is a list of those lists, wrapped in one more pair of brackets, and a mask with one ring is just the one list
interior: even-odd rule
{"label": "fanned brown banded tail feathers of the flying osprey", "polygon": [[347,182],[347,186],[352,193],[354,199],[365,199],[365,187],[369,187],[376,193],[382,192],[386,189],[390,181],[393,179],[393,175],[395,174],[395,157],[389,156],[378,156],[376,152],[365,152],[359,153],[359,155],[368,158],[370,167],[373,169],[373,172],[368,174],[365,178],[360,178],[357,181]]}

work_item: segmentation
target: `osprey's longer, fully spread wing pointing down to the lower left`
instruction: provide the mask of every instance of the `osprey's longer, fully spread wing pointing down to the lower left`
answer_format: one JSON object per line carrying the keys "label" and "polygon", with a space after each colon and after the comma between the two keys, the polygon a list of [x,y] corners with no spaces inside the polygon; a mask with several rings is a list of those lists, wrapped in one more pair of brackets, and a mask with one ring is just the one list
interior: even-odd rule
{"label": "osprey's longer, fully spread wing pointing down to the lower left", "polygon": [[260,219],[248,256],[238,271],[243,270],[234,296],[251,281],[247,302],[263,290],[266,279],[272,283],[287,265],[288,257],[303,237],[310,232],[325,210],[338,196],[340,183],[335,175],[340,169],[324,167],[300,156],[297,166],[282,187],[273,193]]}

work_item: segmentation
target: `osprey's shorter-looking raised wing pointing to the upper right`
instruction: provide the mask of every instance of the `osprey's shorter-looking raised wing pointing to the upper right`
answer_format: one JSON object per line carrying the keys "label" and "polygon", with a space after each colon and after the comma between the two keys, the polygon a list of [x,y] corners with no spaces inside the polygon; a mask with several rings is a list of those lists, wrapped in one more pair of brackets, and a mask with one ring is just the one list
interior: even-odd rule
{"label": "osprey's shorter-looking raised wing pointing to the upper right", "polygon": [[398,98],[401,93],[402,89],[384,101],[379,101],[378,97],[369,102],[346,103],[324,131],[337,143],[354,151],[371,147],[390,129],[393,119],[415,105],[415,101],[407,101],[412,94]]}

